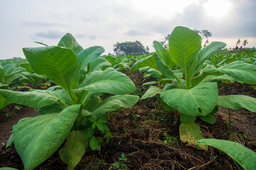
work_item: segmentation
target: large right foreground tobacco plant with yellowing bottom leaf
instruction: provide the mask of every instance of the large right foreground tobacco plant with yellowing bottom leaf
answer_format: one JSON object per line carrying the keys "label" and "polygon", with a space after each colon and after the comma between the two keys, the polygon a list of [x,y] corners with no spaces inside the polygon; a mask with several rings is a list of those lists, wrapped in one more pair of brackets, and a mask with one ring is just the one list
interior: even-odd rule
{"label": "large right foreground tobacco plant with yellowing bottom leaf", "polygon": [[[227,79],[235,79],[256,84],[256,66],[244,62],[231,62],[222,67],[205,64],[205,60],[225,47],[223,42],[211,42],[201,49],[201,36],[189,28],[174,28],[169,38],[169,50],[154,41],[154,55],[139,60],[132,72],[139,68],[151,67],[161,72],[160,86],[150,86],[142,96],[150,98],[159,94],[159,100],[168,111],[180,113],[180,139],[188,145],[196,145],[203,139],[200,127],[194,123],[196,117],[206,123],[215,123],[218,107],[238,110],[247,108],[256,112],[256,99],[250,96],[218,96],[218,84]],[[178,66],[179,69],[176,69]],[[161,88],[159,88],[161,87]],[[201,146],[206,149],[206,146]]]}

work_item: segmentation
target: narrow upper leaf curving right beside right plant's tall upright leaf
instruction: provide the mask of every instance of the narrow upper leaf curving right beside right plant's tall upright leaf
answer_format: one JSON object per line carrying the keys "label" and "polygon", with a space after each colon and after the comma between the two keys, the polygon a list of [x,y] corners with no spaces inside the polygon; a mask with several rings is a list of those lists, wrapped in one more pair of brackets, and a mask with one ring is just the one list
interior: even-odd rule
{"label": "narrow upper leaf curving right beside right plant's tall upright leaf", "polygon": [[210,42],[209,45],[207,45],[202,50],[200,50],[198,52],[198,56],[196,57],[196,65],[195,65],[195,67],[193,67],[194,70],[193,70],[191,76],[193,76],[194,74],[198,73],[200,71],[200,69],[202,69],[203,62],[210,55],[212,55],[213,52],[215,52],[217,50],[221,50],[225,46],[226,46],[226,44],[224,42],[216,42],[216,41],[214,41],[214,42]]}

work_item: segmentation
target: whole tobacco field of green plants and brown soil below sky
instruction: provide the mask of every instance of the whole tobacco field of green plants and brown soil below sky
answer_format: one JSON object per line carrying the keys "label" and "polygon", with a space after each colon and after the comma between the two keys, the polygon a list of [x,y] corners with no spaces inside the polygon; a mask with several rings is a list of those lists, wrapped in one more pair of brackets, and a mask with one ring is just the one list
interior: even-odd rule
{"label": "whole tobacco field of green plants and brown soil below sky", "polygon": [[256,51],[102,55],[67,33],[0,61],[0,169],[256,169]]}

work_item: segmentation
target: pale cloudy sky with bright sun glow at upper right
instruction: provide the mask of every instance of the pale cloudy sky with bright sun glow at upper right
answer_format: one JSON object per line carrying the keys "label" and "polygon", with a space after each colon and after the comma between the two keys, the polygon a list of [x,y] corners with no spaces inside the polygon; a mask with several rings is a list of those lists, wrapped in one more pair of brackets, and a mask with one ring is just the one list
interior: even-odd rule
{"label": "pale cloudy sky with bright sun glow at upper right", "polygon": [[71,33],[83,48],[139,40],[153,51],[176,26],[209,30],[210,41],[256,47],[255,0],[0,0],[0,59],[24,57],[35,41],[57,45]]}

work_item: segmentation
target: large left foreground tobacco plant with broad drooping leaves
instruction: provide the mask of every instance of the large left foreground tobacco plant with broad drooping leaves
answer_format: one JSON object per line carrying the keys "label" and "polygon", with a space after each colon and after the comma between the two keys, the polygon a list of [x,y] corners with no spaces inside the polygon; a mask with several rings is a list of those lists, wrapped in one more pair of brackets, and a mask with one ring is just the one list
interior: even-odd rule
{"label": "large left foreground tobacco plant with broad drooping leaves", "polygon": [[[14,142],[25,169],[44,162],[63,142],[60,159],[74,169],[86,149],[100,150],[112,136],[105,112],[132,107],[139,100],[129,95],[136,88],[125,74],[112,68],[92,69],[99,65],[102,52],[100,46],[83,50],[70,33],[57,46],[23,48],[33,72],[58,85],[27,92],[0,90],[9,103],[38,108],[41,113],[18,121],[9,139],[8,145]],[[102,96],[105,93],[112,95]]]}

